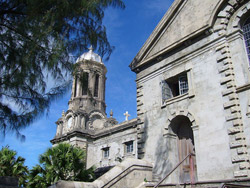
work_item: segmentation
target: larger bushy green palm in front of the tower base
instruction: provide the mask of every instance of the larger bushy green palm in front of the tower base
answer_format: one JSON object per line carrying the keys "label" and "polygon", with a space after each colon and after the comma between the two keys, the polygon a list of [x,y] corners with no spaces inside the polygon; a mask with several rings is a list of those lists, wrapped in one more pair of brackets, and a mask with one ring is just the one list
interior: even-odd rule
{"label": "larger bushy green palm in front of the tower base", "polygon": [[58,180],[92,181],[94,170],[86,170],[85,152],[62,143],[49,148],[30,171],[28,187],[48,187]]}

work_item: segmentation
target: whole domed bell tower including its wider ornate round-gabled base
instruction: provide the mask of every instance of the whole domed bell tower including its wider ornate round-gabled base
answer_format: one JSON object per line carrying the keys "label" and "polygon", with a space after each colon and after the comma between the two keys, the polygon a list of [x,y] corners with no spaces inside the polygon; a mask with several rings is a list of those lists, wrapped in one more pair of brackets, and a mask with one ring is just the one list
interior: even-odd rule
{"label": "whole domed bell tower including its wider ornate round-gabled base", "polygon": [[106,73],[101,57],[92,47],[76,60],[69,108],[56,122],[52,144],[66,141],[84,149],[95,130],[118,123],[106,116]]}

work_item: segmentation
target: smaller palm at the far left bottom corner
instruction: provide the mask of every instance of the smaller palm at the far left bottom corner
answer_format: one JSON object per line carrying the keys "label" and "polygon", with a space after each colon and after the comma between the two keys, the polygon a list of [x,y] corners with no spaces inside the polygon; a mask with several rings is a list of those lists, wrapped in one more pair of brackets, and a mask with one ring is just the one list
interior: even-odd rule
{"label": "smaller palm at the far left bottom corner", "polygon": [[19,186],[26,185],[28,168],[24,165],[25,159],[16,156],[17,152],[8,146],[0,150],[0,176],[12,176],[19,179]]}

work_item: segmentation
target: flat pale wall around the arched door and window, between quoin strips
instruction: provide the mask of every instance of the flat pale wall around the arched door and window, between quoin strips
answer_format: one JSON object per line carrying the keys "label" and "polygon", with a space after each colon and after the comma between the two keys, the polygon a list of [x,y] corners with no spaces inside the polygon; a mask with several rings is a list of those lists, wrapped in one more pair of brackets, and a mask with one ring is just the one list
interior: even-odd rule
{"label": "flat pale wall around the arched door and window, between quoin strips", "polygon": [[[192,50],[193,46],[190,48]],[[185,51],[187,53],[188,49]],[[215,48],[206,47],[179,61],[163,60],[157,66],[162,64],[164,68],[153,72],[153,75],[149,74],[150,79],[147,79],[149,76],[138,79],[140,85],[143,85],[144,122],[147,122],[144,159],[155,163],[156,174],[166,174],[178,163],[177,154],[171,153],[176,150],[176,145],[171,144],[170,138],[164,137],[163,130],[168,128],[168,122],[173,117],[178,114],[188,116],[190,113],[195,120],[193,132],[199,179],[233,177],[230,173],[232,166],[228,147],[229,138],[227,130],[224,129],[223,99],[218,83],[220,74],[216,58]],[[154,66],[151,68],[154,69]],[[147,74],[147,71],[141,72],[141,75]],[[175,73],[171,75],[173,72],[178,74],[183,71],[190,71],[189,82],[193,85],[192,93],[162,103],[161,81],[174,76]],[[210,161],[209,164],[207,161]],[[207,172],[211,171],[214,173],[209,175]]]}

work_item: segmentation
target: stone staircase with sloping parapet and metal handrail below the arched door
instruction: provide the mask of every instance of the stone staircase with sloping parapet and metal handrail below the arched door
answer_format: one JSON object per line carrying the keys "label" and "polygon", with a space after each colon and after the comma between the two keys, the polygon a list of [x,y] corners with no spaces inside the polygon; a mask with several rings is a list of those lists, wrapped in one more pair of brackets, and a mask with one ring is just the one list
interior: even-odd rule
{"label": "stone staircase with sloping parapet and metal handrail below the arched door", "polygon": [[[192,155],[193,154],[190,153],[183,161],[188,157],[191,158]],[[164,180],[169,177],[183,161],[177,164],[160,181],[152,180],[153,165],[151,163],[139,159],[126,159],[94,182],[59,181],[50,186],[50,188],[250,188],[250,178],[194,182],[191,177],[191,182],[186,184],[164,183]],[[159,179],[159,177],[155,176],[154,180],[156,179]]]}

